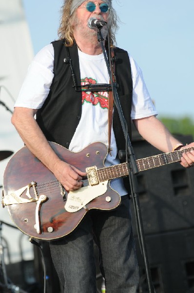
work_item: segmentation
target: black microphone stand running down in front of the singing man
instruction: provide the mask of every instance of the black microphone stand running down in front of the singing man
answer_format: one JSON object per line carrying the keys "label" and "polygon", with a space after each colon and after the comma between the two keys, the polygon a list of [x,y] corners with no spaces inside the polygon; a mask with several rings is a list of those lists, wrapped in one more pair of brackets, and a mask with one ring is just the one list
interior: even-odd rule
{"label": "black microphone stand running down in front of the singing man", "polygon": [[[118,111],[119,119],[121,122],[121,126],[124,132],[124,136],[126,138],[126,160],[127,160],[127,166],[128,166],[128,173],[129,173],[129,181],[130,181],[130,187],[131,187],[131,196],[134,202],[134,209],[135,209],[135,216],[136,216],[136,226],[137,226],[137,232],[138,232],[138,237],[139,237],[139,245],[141,249],[141,253],[143,255],[143,260],[144,260],[144,265],[145,265],[145,272],[146,272],[146,278],[147,278],[147,283],[148,283],[148,292],[149,293],[154,293],[155,289],[152,284],[152,278],[151,278],[151,272],[150,272],[150,266],[148,262],[148,255],[147,255],[147,249],[146,249],[146,244],[145,244],[145,234],[143,230],[143,222],[142,222],[142,217],[141,217],[141,210],[140,210],[140,205],[139,205],[139,195],[138,195],[138,185],[137,185],[137,178],[136,174],[138,174],[138,169],[136,166],[136,159],[133,151],[133,147],[130,142],[130,138],[127,132],[127,127],[126,127],[126,122],[123,116],[122,108],[120,105],[120,101],[118,98],[118,93],[116,90],[116,84],[113,82],[112,79],[112,72],[111,68],[108,63],[108,59],[106,56],[104,44],[103,44],[103,37],[101,34],[101,27],[97,26],[98,32],[97,32],[97,40],[101,44],[102,52],[104,54],[104,59],[106,62],[106,66],[108,69],[108,73],[110,76],[111,84],[112,84],[112,90],[113,90],[113,98],[114,102]],[[110,55],[110,54],[109,54]]]}

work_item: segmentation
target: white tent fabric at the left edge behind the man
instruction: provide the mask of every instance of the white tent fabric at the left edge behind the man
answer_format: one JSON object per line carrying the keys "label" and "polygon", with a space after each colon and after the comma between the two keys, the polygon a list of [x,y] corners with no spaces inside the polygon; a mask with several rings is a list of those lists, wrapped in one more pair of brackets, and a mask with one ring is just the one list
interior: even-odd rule
{"label": "white tent fabric at the left edge behind the man", "polygon": [[[33,56],[22,0],[0,1],[0,151],[11,150],[15,153],[23,146],[11,124],[11,112]],[[0,186],[3,185],[4,169],[10,158],[0,161]],[[1,190],[2,188],[0,193]],[[13,224],[6,207],[5,209],[0,207],[0,220]],[[16,237],[21,236],[19,233],[21,233],[19,230],[3,225],[2,234],[10,243],[12,261],[19,260],[18,244],[16,244]]]}

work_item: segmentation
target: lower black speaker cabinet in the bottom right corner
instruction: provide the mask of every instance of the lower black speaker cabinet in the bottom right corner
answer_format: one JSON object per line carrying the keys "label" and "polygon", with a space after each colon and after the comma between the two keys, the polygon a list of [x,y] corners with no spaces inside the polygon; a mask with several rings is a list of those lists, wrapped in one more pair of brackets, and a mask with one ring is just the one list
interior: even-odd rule
{"label": "lower black speaker cabinet in the bottom right corner", "polygon": [[[143,259],[137,238],[139,292],[146,293]],[[194,229],[145,236],[155,293],[194,293]]]}

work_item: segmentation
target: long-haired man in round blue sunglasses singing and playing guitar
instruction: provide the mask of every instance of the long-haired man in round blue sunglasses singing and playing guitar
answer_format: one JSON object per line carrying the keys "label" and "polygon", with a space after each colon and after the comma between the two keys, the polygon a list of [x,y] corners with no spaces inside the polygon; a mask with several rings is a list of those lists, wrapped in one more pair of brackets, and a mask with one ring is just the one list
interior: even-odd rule
{"label": "long-haired man in round blue sunglasses singing and playing guitar", "polygon": [[[97,41],[97,29],[88,27],[92,17],[108,22],[113,44],[117,24],[111,0],[66,0],[59,28],[61,40],[44,47],[35,57],[12,117],[12,123],[25,145],[54,173],[67,191],[81,188],[85,170],[58,158],[48,140],[74,152],[98,141],[108,146],[107,92],[78,90],[81,84],[109,84],[104,56]],[[102,34],[107,40],[106,27],[103,27]],[[118,93],[129,132],[132,119],[139,133],[161,151],[184,147],[156,119],[155,107],[136,62],[124,50],[115,48],[115,54],[119,59],[115,69]],[[70,59],[73,71],[69,66]],[[106,158],[106,166],[119,163],[117,151],[122,141],[123,134],[114,108],[111,154]],[[194,143],[189,146],[194,146]],[[181,165],[190,167],[193,164],[194,151],[183,153]],[[96,292],[93,238],[99,248],[106,292],[136,292],[139,277],[131,229],[130,190],[126,189],[122,179],[112,180],[111,187],[121,196],[118,208],[89,211],[76,230],[50,243],[53,262],[65,292]]]}

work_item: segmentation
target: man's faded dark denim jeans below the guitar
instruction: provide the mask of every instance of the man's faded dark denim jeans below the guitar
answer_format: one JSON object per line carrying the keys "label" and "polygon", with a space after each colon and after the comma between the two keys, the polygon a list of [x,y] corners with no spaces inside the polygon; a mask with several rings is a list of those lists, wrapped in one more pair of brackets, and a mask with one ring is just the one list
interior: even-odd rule
{"label": "man's faded dark denim jeans below the guitar", "polygon": [[97,292],[94,240],[106,293],[136,293],[139,273],[128,195],[115,210],[89,211],[70,235],[50,242],[65,293]]}

